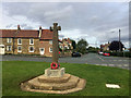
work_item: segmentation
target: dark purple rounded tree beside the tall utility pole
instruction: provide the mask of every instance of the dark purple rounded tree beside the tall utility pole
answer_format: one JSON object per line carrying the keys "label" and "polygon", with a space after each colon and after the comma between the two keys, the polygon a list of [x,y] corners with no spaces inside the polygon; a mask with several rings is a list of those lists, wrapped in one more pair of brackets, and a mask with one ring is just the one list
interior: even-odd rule
{"label": "dark purple rounded tree beside the tall utility pole", "polygon": [[[120,47],[119,47],[120,45]],[[117,41],[117,40],[114,40],[111,41],[110,46],[109,46],[109,50],[119,50],[120,48],[120,51],[122,51],[122,48],[124,48],[123,44],[121,41]]]}

